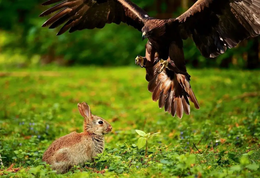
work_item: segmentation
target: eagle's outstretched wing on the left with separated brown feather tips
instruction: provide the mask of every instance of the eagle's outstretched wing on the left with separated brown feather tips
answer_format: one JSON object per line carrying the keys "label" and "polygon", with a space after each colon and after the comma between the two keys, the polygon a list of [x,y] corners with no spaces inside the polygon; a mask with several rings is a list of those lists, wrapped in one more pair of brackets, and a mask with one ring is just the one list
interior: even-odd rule
{"label": "eagle's outstretched wing on the left with separated brown feather tips", "polygon": [[[42,5],[58,3],[61,0],[48,0]],[[83,29],[103,28],[106,23],[127,23],[141,31],[144,22],[152,18],[143,9],[128,0],[63,0],[44,11],[40,16],[47,16],[55,11],[42,27],[50,25],[53,29],[63,25],[57,35],[68,29],[69,32]]]}

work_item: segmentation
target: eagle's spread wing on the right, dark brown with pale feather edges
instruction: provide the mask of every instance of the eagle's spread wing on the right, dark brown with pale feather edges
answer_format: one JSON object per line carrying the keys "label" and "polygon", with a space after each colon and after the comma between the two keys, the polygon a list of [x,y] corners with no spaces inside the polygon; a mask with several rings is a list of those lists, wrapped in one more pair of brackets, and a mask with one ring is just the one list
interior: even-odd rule
{"label": "eagle's spread wing on the right, dark brown with pale feather edges", "polygon": [[169,23],[178,23],[181,36],[190,36],[204,57],[216,57],[260,34],[260,0],[198,0]]}

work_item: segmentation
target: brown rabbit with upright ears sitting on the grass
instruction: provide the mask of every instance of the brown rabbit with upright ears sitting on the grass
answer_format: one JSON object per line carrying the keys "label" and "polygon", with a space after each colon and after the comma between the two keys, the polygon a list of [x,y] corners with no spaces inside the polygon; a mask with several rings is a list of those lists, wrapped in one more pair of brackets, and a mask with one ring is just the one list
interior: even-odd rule
{"label": "brown rabbit with upright ears sitting on the grass", "polygon": [[84,117],[83,132],[74,131],[55,140],[42,157],[42,161],[60,174],[68,172],[74,165],[83,166],[85,162],[93,162],[93,157],[103,152],[104,135],[112,131],[107,121],[91,113],[87,103],[77,105]]}

